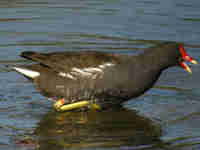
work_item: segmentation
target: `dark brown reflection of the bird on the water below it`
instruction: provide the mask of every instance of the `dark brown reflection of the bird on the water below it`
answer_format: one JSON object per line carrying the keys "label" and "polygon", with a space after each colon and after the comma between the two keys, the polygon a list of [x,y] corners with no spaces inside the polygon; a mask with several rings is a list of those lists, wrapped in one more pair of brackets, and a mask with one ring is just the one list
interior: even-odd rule
{"label": "dark brown reflection of the bird on the water below it", "polygon": [[49,112],[35,130],[41,149],[152,145],[161,129],[133,111]]}

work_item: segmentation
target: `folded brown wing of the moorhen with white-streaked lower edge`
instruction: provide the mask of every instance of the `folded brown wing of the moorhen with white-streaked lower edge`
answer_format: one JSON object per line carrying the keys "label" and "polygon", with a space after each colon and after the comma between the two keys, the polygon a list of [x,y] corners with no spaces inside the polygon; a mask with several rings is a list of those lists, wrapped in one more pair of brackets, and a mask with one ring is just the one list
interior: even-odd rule
{"label": "folded brown wing of the moorhen with white-streaked lower edge", "polygon": [[23,52],[22,57],[39,62],[60,76],[75,79],[77,77],[95,77],[104,69],[119,63],[117,54],[82,51],[38,53]]}

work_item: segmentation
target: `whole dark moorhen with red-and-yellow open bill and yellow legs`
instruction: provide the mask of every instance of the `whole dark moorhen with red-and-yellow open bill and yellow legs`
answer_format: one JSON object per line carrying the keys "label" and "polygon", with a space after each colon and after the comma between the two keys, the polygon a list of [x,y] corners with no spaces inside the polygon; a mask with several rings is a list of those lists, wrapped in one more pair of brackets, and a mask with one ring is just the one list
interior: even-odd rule
{"label": "whole dark moorhen with red-and-yellow open bill and yellow legs", "polygon": [[197,64],[182,44],[174,42],[146,48],[138,55],[25,51],[21,56],[38,63],[12,68],[31,79],[43,95],[56,100],[59,111],[120,106],[150,89],[163,70],[180,66],[191,73],[185,61]]}

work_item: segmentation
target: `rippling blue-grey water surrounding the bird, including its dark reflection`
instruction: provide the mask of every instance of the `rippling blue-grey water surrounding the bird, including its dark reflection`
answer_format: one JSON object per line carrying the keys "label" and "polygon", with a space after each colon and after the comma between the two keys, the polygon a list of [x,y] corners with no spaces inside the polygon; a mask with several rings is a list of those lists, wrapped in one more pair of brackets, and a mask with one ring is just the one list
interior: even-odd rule
{"label": "rippling blue-grey water surrounding the bird, including its dark reflection", "polygon": [[56,113],[5,64],[25,50],[118,50],[184,42],[200,56],[200,1],[3,0],[0,2],[0,149],[200,149],[199,65],[165,71],[119,112]]}

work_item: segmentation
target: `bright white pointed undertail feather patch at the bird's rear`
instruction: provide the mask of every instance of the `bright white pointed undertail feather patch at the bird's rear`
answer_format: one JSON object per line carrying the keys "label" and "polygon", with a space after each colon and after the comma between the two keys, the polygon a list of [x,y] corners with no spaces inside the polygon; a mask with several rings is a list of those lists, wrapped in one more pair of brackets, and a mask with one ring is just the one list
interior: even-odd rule
{"label": "bright white pointed undertail feather patch at the bird's rear", "polygon": [[34,79],[40,75],[40,73],[37,71],[28,70],[25,68],[13,67],[13,69],[29,78],[32,78],[32,79]]}

